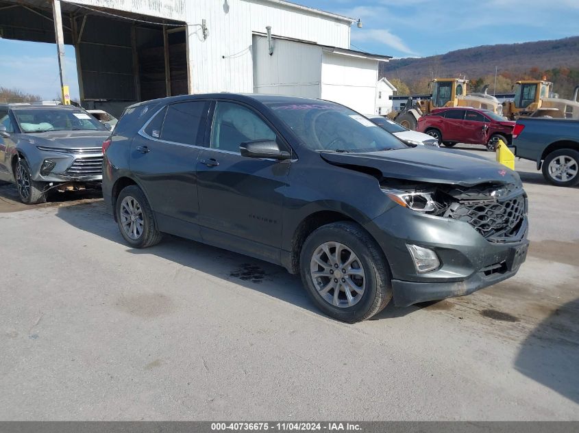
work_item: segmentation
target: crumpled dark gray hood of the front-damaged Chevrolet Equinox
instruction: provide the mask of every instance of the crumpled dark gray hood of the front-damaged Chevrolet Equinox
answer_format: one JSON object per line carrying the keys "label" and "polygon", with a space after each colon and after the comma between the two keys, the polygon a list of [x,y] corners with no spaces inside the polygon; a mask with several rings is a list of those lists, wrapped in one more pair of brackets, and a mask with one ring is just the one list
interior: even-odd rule
{"label": "crumpled dark gray hood of the front-damaged Chevrolet Equinox", "polygon": [[446,149],[415,148],[368,153],[321,153],[337,166],[369,167],[386,178],[428,183],[473,186],[479,183],[520,184],[519,174],[484,157]]}

